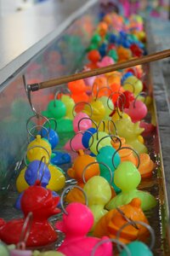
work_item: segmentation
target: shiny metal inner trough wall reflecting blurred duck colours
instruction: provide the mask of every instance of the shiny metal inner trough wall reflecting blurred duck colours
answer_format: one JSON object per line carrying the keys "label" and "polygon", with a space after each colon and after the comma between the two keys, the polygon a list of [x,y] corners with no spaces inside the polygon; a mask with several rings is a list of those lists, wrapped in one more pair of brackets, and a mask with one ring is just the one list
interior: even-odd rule
{"label": "shiny metal inner trough wall reflecting blurred duck colours", "polygon": [[[15,163],[24,155],[27,143],[26,120],[32,113],[22,75],[31,84],[73,73],[81,68],[82,56],[94,32],[97,14],[98,8],[95,7],[77,18],[46,48],[39,48],[42,51],[0,87],[0,141],[3,148],[0,151],[0,191],[6,191],[11,177],[16,174]],[[8,71],[8,67],[5,70]],[[47,107],[50,91],[43,90],[31,95],[37,112]]]}

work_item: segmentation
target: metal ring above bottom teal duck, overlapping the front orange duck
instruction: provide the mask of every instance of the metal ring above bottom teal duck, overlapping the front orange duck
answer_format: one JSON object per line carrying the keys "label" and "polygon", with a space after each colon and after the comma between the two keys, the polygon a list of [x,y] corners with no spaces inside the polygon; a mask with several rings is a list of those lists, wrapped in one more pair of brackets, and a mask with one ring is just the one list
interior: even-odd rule
{"label": "metal ring above bottom teal duck, overlapping the front orange duck", "polygon": [[[156,236],[155,236],[154,230],[150,227],[149,224],[146,224],[146,223],[144,223],[142,221],[139,221],[139,220],[136,221],[136,220],[131,220],[130,219],[130,221],[128,221],[126,224],[123,224],[122,227],[120,228],[120,230],[118,230],[117,233],[116,233],[116,239],[118,239],[118,240],[120,239],[121,232],[124,228],[126,228],[128,225],[133,225],[134,226],[134,224],[135,225],[140,224],[140,225],[144,226],[147,230],[150,231],[150,236],[151,236],[150,250],[151,250],[154,247],[155,241],[156,241]],[[121,251],[120,246],[118,247],[118,249],[119,249],[119,251]]]}

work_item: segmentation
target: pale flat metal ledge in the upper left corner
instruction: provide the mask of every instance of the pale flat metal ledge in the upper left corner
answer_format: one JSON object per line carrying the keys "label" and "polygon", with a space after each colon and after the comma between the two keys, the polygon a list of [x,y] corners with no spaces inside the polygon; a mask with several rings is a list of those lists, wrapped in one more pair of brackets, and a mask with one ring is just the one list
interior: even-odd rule
{"label": "pale flat metal ledge in the upper left corner", "polygon": [[52,40],[96,0],[67,0],[37,4],[0,18],[0,84]]}

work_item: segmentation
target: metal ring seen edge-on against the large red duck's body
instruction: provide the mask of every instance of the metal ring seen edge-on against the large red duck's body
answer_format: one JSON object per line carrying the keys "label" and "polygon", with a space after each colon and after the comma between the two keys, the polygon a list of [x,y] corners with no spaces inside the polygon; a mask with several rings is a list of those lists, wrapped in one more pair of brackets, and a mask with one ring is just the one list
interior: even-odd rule
{"label": "metal ring seen edge-on against the large red duck's body", "polygon": [[23,224],[21,234],[20,234],[20,241],[17,244],[18,249],[25,249],[26,248],[26,241],[28,239],[28,236],[30,235],[31,231],[31,224],[32,224],[33,214],[32,212],[29,212],[26,216],[25,222]]}

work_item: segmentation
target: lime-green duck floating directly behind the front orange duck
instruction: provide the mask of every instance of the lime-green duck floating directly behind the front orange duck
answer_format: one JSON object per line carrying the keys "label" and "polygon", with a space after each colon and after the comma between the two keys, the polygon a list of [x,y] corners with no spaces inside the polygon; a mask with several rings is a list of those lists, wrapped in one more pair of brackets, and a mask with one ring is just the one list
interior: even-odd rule
{"label": "lime-green duck floating directly behind the front orange duck", "polygon": [[111,210],[121,207],[136,197],[140,199],[143,211],[156,207],[156,198],[153,195],[137,189],[140,181],[141,176],[136,166],[129,161],[122,162],[116,168],[114,175],[114,183],[118,188],[122,189],[122,192],[111,199],[106,205],[106,209]]}

